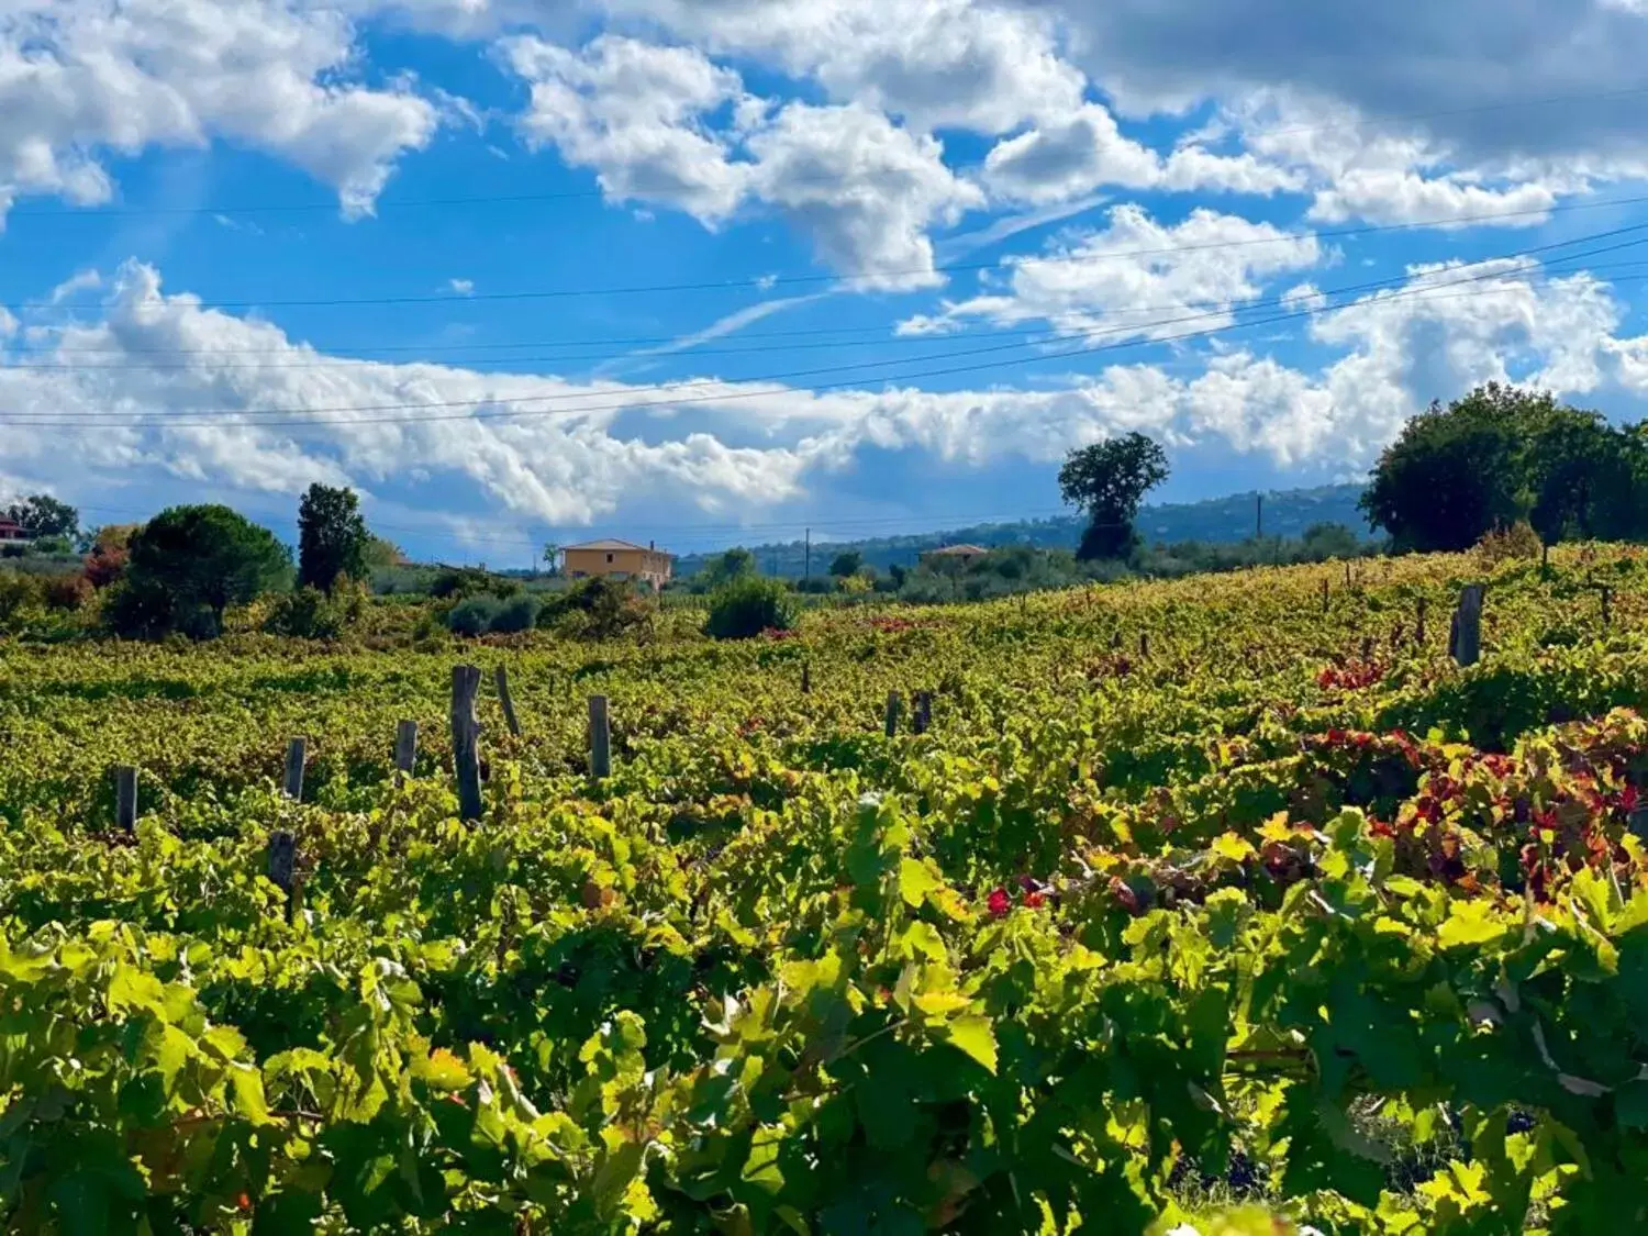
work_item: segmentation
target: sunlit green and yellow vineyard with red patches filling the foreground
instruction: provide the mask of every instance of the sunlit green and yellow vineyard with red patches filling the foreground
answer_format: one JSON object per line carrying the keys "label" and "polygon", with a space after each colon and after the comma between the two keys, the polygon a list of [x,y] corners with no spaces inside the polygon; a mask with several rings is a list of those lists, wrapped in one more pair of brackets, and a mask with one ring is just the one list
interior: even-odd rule
{"label": "sunlit green and yellow vineyard with red patches filling the foreground", "polygon": [[1648,555],[682,630],[0,644],[7,1228],[1648,1229]]}

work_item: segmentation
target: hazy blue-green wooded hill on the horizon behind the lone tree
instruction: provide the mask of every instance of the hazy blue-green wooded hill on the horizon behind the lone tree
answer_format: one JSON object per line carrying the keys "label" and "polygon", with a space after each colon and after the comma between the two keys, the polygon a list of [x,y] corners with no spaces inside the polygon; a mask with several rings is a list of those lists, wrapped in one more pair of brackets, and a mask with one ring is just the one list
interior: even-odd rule
{"label": "hazy blue-green wooded hill on the horizon behind the lone tree", "polygon": [[[1345,524],[1360,536],[1369,536],[1366,519],[1356,509],[1361,498],[1360,485],[1325,485],[1315,489],[1282,489],[1264,494],[1264,534],[1297,537],[1312,524]],[[1139,513],[1139,534],[1152,544],[1175,541],[1246,541],[1254,534],[1254,508],[1257,493],[1208,498],[1200,503],[1175,503],[1147,506]],[[1010,524],[974,524],[943,532],[915,532],[895,537],[870,537],[867,541],[814,541],[812,574],[829,570],[831,559],[847,549],[855,549],[877,570],[893,564],[915,565],[929,549],[954,544],[972,544],[995,549],[997,545],[1038,545],[1042,549],[1074,549],[1081,539],[1083,521],[1076,516],[1058,519],[1020,519]],[[750,545],[763,574],[799,578],[806,570],[806,545],[801,541],[788,544]],[[714,554],[686,554],[676,559],[676,578],[695,575]]]}

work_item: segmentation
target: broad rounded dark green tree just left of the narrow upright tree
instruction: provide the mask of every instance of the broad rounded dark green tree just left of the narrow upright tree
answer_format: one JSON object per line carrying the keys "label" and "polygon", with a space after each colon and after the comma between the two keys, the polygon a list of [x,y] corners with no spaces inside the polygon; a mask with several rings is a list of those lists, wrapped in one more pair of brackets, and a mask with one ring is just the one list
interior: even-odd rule
{"label": "broad rounded dark green tree just left of the narrow upright tree", "polygon": [[267,527],[227,506],[173,506],[129,545],[115,623],[133,634],[222,630],[231,605],[283,587],[292,555]]}

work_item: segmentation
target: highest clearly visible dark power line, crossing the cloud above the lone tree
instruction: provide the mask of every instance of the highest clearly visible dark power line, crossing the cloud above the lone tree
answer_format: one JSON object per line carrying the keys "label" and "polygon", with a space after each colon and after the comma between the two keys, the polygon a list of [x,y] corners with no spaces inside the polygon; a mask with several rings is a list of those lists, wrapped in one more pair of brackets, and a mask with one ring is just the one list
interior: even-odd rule
{"label": "highest clearly visible dark power line, crossing the cloud above the lone tree", "polygon": [[[855,270],[855,272],[837,272],[837,274],[812,274],[812,275],[770,275],[758,279],[742,279],[742,280],[707,280],[707,282],[691,282],[691,283],[633,283],[633,285],[615,285],[615,287],[590,287],[590,288],[541,288],[531,292],[475,292],[468,295],[460,293],[438,293],[438,295],[405,295],[405,297],[320,297],[320,298],[297,298],[297,300],[218,300],[218,302],[198,302],[191,308],[198,310],[254,310],[254,308],[359,308],[366,305],[463,305],[475,302],[521,302],[521,300],[570,300],[582,297],[631,297],[631,295],[651,295],[651,293],[682,293],[682,292],[728,292],[728,290],[748,290],[748,288],[771,288],[775,285],[796,285],[796,283],[852,283],[855,280],[867,279],[897,279],[906,275],[928,275],[928,274],[961,274],[969,270],[995,270],[1002,265],[1020,267],[1020,265],[1063,265],[1073,262],[1109,262],[1122,260],[1132,257],[1163,257],[1170,254],[1192,254],[1218,249],[1244,249],[1262,244],[1297,244],[1300,241],[1322,241],[1337,239],[1345,236],[1368,236],[1374,232],[1391,232],[1391,231],[1412,231],[1421,227],[1455,227],[1472,222],[1486,222],[1493,219],[1513,219],[1513,218],[1533,218],[1556,214],[1571,209],[1605,209],[1610,206],[1630,206],[1648,201],[1648,194],[1638,198],[1615,198],[1607,203],[1571,203],[1567,206],[1547,206],[1541,209],[1519,209],[1519,211],[1498,211],[1490,214],[1473,214],[1473,216],[1454,216],[1450,219],[1430,219],[1424,222],[1401,222],[1401,224],[1369,224],[1365,227],[1341,227],[1335,231],[1323,232],[1282,232],[1277,236],[1251,237],[1246,241],[1208,241],[1203,244],[1185,244],[1185,246],[1165,246],[1157,249],[1131,249],[1116,250],[1106,254],[1045,254],[1045,255],[1023,255],[1012,257],[1007,262],[951,262],[943,265],[929,267],[906,267],[906,269],[882,269],[882,270]],[[58,310],[73,311],[76,308],[84,308],[82,305],[64,305],[49,300],[25,300],[13,302],[10,305],[13,310]]]}

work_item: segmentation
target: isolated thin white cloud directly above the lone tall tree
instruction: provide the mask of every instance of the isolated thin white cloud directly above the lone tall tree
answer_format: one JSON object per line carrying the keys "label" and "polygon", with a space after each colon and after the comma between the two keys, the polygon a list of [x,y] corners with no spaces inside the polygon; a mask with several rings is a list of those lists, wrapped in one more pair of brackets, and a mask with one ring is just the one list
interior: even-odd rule
{"label": "isolated thin white cloud directly above the lone tall tree", "polygon": [[1078,234],[1040,259],[1009,259],[1010,282],[1000,292],[948,305],[934,318],[915,318],[905,331],[987,318],[1002,325],[1048,321],[1104,339],[1167,338],[1228,323],[1231,307],[1259,297],[1266,277],[1320,260],[1310,234],[1205,209],[1165,226],[1139,206],[1117,206],[1104,231]]}

